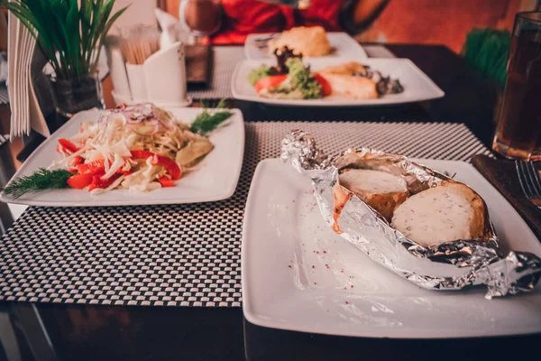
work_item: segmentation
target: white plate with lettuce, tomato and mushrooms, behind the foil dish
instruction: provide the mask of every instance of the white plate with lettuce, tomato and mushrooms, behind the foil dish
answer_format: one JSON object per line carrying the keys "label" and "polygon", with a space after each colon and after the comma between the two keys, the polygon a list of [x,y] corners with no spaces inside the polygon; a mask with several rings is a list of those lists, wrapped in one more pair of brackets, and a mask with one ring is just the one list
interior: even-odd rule
{"label": "white plate with lettuce, tomato and mushrooms, behind the foil dish", "polygon": [[[354,59],[309,59],[305,60],[310,69],[317,71],[329,65],[337,65]],[[274,99],[259,97],[255,88],[248,82],[248,74],[261,64],[276,65],[275,60],[244,60],[234,69],[231,91],[237,99],[277,106],[377,106],[384,104],[401,104],[443,97],[444,91],[436,86],[426,74],[408,59],[365,59],[362,64],[381,71],[384,77],[399,79],[404,91],[375,99],[351,99],[348,97],[330,96],[322,99]]]}

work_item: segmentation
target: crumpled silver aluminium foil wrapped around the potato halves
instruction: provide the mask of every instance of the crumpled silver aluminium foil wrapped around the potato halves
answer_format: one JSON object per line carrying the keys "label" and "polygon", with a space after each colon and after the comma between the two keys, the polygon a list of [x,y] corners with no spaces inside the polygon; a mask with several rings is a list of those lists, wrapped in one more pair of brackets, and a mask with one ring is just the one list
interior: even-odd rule
{"label": "crumpled silver aluminium foil wrapped around the potato halves", "polygon": [[[460,290],[484,284],[485,297],[491,299],[532,291],[541,277],[541,259],[536,255],[513,251],[501,254],[488,212],[481,241],[457,240],[426,247],[390,227],[381,214],[338,182],[339,171],[344,168],[387,171],[406,180],[408,190],[416,194],[451,180],[445,174],[407,157],[369,148],[326,156],[317,148],[314,138],[301,130],[286,135],[281,159],[291,162],[297,171],[312,180],[319,210],[329,227],[373,261],[420,287]],[[345,198],[339,205],[339,213],[335,211],[337,195],[338,199]]]}

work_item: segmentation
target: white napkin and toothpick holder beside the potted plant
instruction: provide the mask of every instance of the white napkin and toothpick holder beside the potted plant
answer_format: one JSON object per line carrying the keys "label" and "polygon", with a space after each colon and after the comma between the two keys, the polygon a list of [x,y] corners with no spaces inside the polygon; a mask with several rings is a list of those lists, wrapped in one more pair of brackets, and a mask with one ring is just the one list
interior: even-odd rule
{"label": "white napkin and toothpick holder beside the potted plant", "polygon": [[144,63],[124,63],[118,42],[107,42],[115,102],[151,102],[161,107],[191,104],[187,97],[186,54],[182,42],[153,53]]}

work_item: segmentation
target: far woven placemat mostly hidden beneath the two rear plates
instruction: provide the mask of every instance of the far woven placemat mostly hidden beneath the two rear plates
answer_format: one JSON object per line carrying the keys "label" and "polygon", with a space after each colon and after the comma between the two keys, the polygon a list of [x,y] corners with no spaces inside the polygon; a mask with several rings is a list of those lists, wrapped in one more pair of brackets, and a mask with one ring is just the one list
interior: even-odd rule
{"label": "far woven placemat mostly hidden beneath the two rear plates", "polygon": [[[395,58],[394,54],[382,45],[366,45],[363,47],[370,58]],[[234,67],[245,58],[242,46],[215,46],[214,69],[210,88],[188,91],[188,97],[194,99],[221,99],[233,97],[231,78]]]}

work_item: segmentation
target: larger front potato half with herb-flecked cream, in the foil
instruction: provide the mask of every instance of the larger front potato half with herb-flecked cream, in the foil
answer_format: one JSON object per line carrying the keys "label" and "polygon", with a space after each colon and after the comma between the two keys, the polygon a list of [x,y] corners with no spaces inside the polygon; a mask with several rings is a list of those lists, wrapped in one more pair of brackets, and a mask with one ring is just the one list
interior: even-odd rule
{"label": "larger front potato half with herb-flecked cream, in the foil", "polygon": [[457,240],[482,240],[487,209],[481,197],[456,181],[409,197],[395,209],[391,226],[425,247]]}

